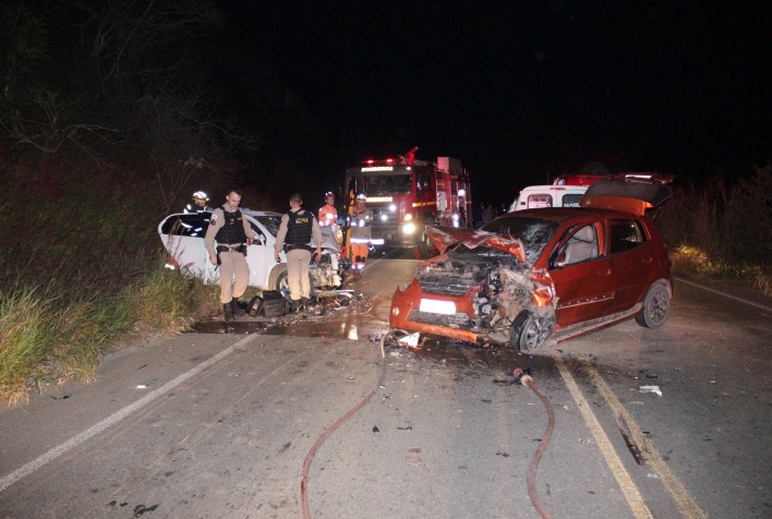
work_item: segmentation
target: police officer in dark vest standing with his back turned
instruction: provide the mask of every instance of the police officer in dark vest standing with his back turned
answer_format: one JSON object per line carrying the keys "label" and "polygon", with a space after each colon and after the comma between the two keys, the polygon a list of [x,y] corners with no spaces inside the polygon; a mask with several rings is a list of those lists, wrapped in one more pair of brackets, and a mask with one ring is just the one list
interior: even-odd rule
{"label": "police officer in dark vest standing with his back turned", "polygon": [[287,253],[287,282],[290,287],[290,310],[298,311],[311,304],[311,238],[316,243],[316,261],[322,258],[322,231],[310,210],[301,208],[303,198],[299,193],[290,196],[290,212],[281,217],[276,236],[274,255],[279,262],[279,253]]}

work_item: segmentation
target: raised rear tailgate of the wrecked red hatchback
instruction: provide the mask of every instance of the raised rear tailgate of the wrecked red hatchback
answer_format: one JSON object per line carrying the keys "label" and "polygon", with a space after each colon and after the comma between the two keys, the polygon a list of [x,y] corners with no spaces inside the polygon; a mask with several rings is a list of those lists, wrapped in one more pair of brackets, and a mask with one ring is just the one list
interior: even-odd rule
{"label": "raised rear tailgate of the wrecked red hatchback", "polygon": [[616,209],[643,216],[673,195],[675,176],[663,173],[610,174],[592,184],[579,201],[581,207]]}

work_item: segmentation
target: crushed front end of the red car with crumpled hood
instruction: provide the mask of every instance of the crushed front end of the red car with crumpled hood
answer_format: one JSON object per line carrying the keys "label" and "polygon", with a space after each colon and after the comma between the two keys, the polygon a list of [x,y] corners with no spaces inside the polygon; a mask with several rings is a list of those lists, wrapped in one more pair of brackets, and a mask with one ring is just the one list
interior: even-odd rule
{"label": "crushed front end of the red car with crumpled hood", "polygon": [[[530,270],[517,240],[480,232],[459,238],[458,246],[422,263],[412,282],[395,292],[393,328],[506,343],[521,312],[554,315],[552,281],[546,273]],[[453,240],[444,233],[441,241],[444,250]]]}

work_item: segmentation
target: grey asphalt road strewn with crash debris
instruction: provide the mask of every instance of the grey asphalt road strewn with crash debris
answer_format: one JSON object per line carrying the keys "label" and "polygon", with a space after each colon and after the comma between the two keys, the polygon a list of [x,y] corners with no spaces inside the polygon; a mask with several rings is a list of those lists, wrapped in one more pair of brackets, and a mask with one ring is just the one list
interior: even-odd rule
{"label": "grey asphalt road strewn with crash debris", "polygon": [[0,517],[533,518],[534,495],[556,518],[772,516],[769,300],[678,280],[659,330],[382,349],[414,268],[372,262],[326,315],[125,346],[3,409]]}

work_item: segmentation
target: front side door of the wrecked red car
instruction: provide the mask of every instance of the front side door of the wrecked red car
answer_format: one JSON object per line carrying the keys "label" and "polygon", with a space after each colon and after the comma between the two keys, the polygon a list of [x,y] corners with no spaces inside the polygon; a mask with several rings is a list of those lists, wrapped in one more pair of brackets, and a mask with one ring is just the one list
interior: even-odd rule
{"label": "front side door of the wrecked red car", "polygon": [[557,295],[557,326],[566,327],[608,315],[614,298],[611,262],[601,221],[575,226],[550,258]]}

